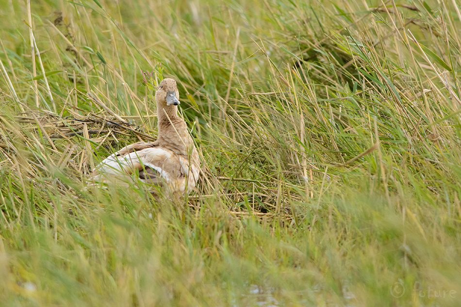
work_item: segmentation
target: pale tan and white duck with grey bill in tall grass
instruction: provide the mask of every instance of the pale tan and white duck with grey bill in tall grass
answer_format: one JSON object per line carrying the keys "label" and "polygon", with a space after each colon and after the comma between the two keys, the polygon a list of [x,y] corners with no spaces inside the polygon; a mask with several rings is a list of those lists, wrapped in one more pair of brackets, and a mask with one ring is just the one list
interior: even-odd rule
{"label": "pale tan and white duck with grey bill in tall grass", "polygon": [[174,79],[159,83],[155,101],[157,140],[127,145],[104,159],[93,170],[95,182],[137,177],[155,191],[187,194],[196,188],[201,162],[187,125],[178,115],[180,100]]}

